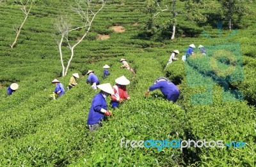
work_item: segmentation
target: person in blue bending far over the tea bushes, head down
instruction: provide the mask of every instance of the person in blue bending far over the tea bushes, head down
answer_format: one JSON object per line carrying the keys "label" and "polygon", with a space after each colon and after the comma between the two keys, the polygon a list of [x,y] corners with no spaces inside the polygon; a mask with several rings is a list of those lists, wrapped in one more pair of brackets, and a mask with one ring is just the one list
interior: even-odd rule
{"label": "person in blue bending far over the tea bushes, head down", "polygon": [[179,89],[174,85],[168,78],[159,77],[154,81],[154,85],[152,85],[148,91],[145,93],[145,96],[148,96],[150,91],[154,91],[156,89],[160,89],[160,91],[164,94],[165,98],[168,101],[176,102],[180,96]]}

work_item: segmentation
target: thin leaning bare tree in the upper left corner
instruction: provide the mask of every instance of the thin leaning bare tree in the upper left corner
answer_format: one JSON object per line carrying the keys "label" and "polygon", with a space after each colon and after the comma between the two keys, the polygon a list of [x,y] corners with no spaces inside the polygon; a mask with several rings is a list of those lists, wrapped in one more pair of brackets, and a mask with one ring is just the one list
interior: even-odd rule
{"label": "thin leaning bare tree in the upper left corner", "polygon": [[[27,0],[26,3],[23,3],[22,0],[20,0],[20,1],[15,0],[15,2],[16,2],[17,4],[20,4],[20,6],[19,6],[19,7],[20,7],[20,10],[23,11],[23,13],[26,15],[26,17],[24,18],[24,20],[23,20],[22,24],[20,25],[20,27],[17,28],[17,30],[16,30],[17,36],[16,36],[15,40],[13,41],[13,43],[12,43],[12,45],[11,45],[11,48],[13,48],[14,45],[15,45],[15,43],[17,42],[17,40],[18,40],[18,38],[19,38],[19,35],[20,35],[20,31],[21,31],[21,29],[22,29],[22,26],[23,26],[24,23],[26,22],[26,20],[27,20],[27,18],[28,18],[29,11],[31,10],[32,4],[33,4],[33,2],[32,2],[31,0]],[[28,11],[26,10],[27,6],[29,6],[29,10],[28,10]]]}

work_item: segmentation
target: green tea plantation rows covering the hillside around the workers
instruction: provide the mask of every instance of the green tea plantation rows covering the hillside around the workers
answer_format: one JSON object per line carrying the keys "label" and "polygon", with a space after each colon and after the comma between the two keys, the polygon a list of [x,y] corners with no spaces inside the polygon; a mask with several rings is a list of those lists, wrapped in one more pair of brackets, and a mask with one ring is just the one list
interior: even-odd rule
{"label": "green tea plantation rows covering the hillside around the workers", "polygon": [[[161,3],[169,5],[170,1]],[[177,9],[184,10],[184,1],[176,3]],[[15,47],[10,48],[16,36],[13,27],[19,27],[24,13],[14,1],[0,2],[0,166],[256,166],[255,1],[245,3],[252,13],[234,24],[236,33],[228,31],[223,22],[221,36],[216,26],[218,11],[201,9],[211,18],[201,24],[179,13],[174,40],[170,40],[172,27],[147,36],[146,1],[108,1],[93,20],[88,36],[74,49],[67,75],[61,76],[56,44],[60,36],[54,22],[68,15],[73,27],[79,26],[72,5],[67,0],[33,3]],[[170,11],[160,13],[157,24],[162,26],[171,17]],[[113,26],[122,26],[122,32],[114,31]],[[69,39],[76,43],[82,31],[70,34]],[[236,70],[223,78],[209,68],[211,54],[202,57],[197,47],[196,54],[182,62],[191,43],[230,50],[236,55]],[[63,60],[68,61],[70,52],[65,46],[67,43],[63,43]],[[180,51],[179,60],[164,69],[172,50]],[[120,69],[122,58],[136,71],[134,78],[127,69]],[[218,63],[214,69],[220,68]],[[111,67],[106,79],[102,78],[104,64]],[[99,76],[100,83],[115,85],[115,78],[122,75],[131,81],[127,86],[131,99],[111,110],[113,117],[104,120],[95,133],[90,133],[86,124],[92,98],[99,92],[85,82],[89,69]],[[67,91],[72,73],[79,73],[80,78],[77,86]],[[159,76],[178,85],[177,103],[164,99],[160,91],[144,95]],[[56,100],[49,96],[54,78],[67,91]],[[6,89],[13,82],[19,83],[19,89],[7,96]],[[110,98],[107,101],[109,104]],[[244,142],[244,147],[125,148],[120,145],[122,138],[223,140]]]}

